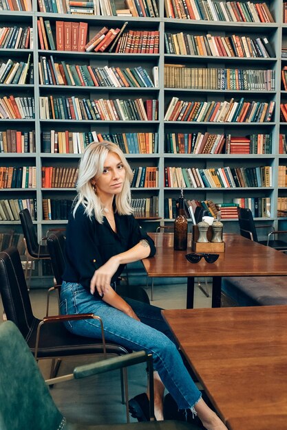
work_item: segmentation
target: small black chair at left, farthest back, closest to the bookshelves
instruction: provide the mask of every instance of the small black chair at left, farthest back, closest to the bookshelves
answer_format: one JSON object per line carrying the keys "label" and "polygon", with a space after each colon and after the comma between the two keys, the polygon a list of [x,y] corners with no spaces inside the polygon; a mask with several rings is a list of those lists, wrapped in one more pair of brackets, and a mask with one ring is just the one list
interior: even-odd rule
{"label": "small black chair at left, farthest back, closest to the bookshelves", "polygon": [[[19,218],[23,229],[25,248],[26,248],[25,279],[28,280],[28,287],[30,287],[30,280],[31,280],[31,274],[32,274],[32,261],[29,264],[29,258],[30,260],[50,260],[50,254],[47,249],[47,245],[41,245],[41,243],[39,244],[38,242],[36,231],[34,229],[34,225],[33,225],[29,210],[28,209],[21,210],[19,212]],[[42,238],[42,240],[44,239],[45,238]],[[28,276],[29,267],[30,267],[30,271]]]}

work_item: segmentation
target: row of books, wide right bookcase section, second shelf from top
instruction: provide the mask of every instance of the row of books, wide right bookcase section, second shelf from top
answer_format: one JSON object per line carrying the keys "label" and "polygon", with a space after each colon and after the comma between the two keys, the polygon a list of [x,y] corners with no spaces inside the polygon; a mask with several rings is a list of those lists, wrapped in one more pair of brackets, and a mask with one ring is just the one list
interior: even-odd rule
{"label": "row of books, wide right bookcase section, second shelf from top", "polygon": [[275,57],[275,50],[268,38],[249,36],[212,36],[203,34],[194,36],[180,32],[164,33],[164,46],[167,54],[199,55],[215,57],[246,57],[270,58]]}

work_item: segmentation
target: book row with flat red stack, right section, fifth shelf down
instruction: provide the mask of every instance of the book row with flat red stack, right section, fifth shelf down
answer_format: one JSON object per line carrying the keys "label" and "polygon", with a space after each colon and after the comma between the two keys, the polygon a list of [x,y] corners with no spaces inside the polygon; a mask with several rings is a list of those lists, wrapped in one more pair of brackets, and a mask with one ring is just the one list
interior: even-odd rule
{"label": "book row with flat red stack, right section, fifth shelf down", "polygon": [[272,135],[166,133],[168,154],[271,154]]}

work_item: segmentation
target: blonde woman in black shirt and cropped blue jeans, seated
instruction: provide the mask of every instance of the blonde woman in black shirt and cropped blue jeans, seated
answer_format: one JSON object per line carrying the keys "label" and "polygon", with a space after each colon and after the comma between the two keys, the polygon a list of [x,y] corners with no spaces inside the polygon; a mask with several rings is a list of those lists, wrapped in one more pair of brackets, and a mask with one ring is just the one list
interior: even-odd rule
{"label": "blonde woman in black shirt and cropped blue jeans, seated", "polygon": [[[131,215],[131,179],[131,168],[118,146],[110,142],[87,146],[66,231],[61,313],[94,313],[103,319],[107,341],[153,354],[157,420],[163,419],[165,386],[179,409],[191,408],[206,429],[226,429],[202,400],[160,308],[124,299],[113,288],[125,264],[156,253],[153,240]],[[70,321],[67,329],[77,335],[101,337],[96,319]],[[133,400],[139,413],[140,405]]]}

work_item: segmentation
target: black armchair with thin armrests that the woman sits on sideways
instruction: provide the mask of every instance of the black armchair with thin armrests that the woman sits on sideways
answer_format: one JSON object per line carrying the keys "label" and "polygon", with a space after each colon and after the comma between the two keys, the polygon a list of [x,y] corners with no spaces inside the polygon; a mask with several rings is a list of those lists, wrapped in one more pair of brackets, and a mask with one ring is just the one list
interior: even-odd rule
{"label": "black armchair with thin armrests that the woman sits on sideways", "polygon": [[51,378],[59,370],[59,358],[86,354],[122,355],[131,352],[117,343],[106,343],[102,323],[102,339],[72,335],[62,324],[70,319],[100,320],[96,315],[56,315],[42,320],[36,318],[32,313],[19,252],[14,247],[0,252],[0,292],[7,319],[17,325],[35,359],[52,359]]}

